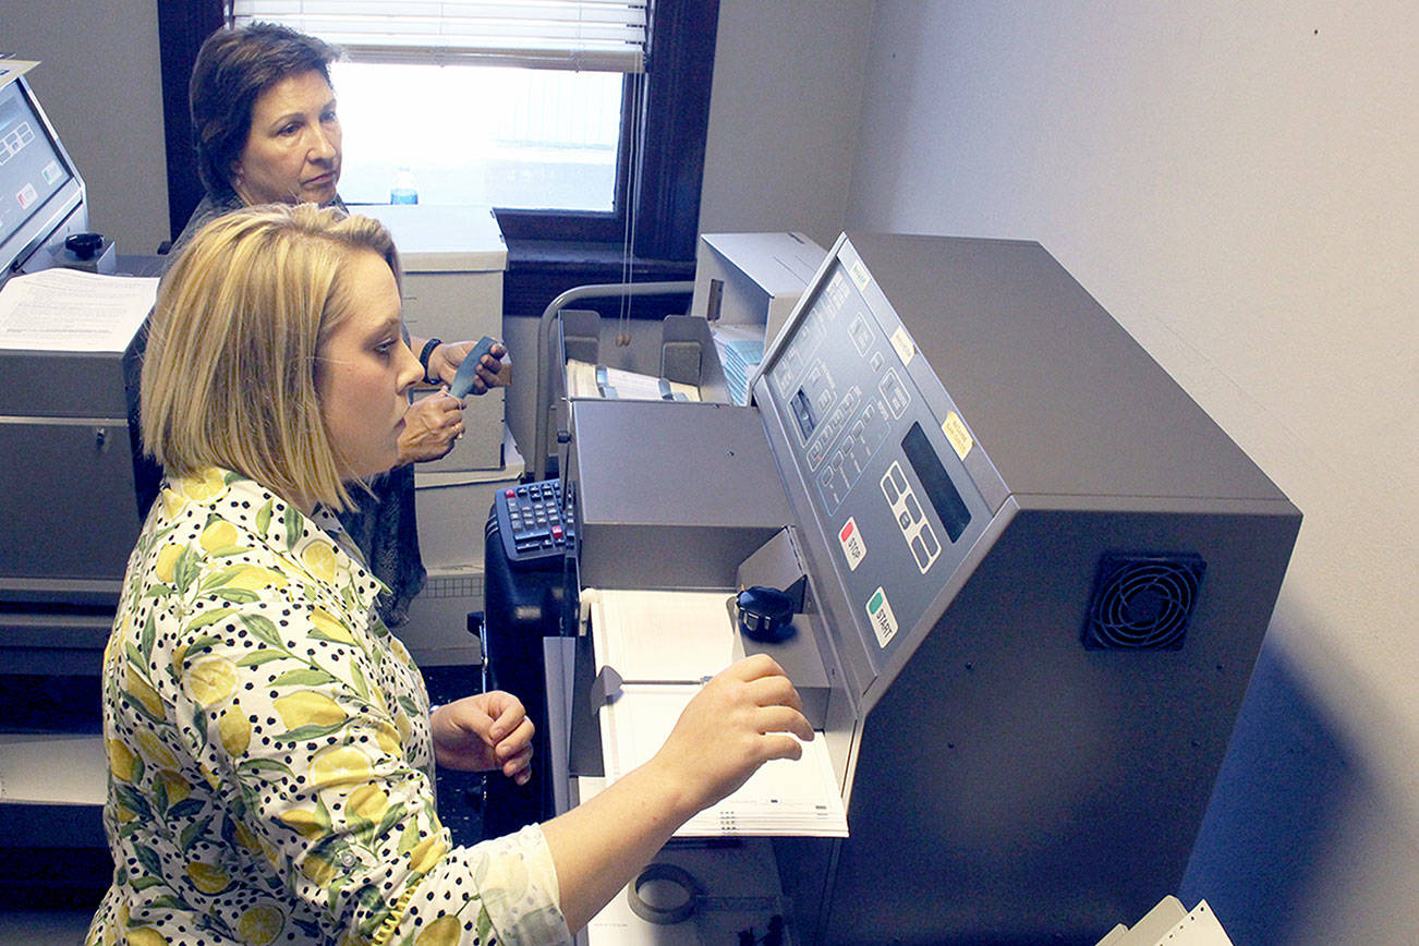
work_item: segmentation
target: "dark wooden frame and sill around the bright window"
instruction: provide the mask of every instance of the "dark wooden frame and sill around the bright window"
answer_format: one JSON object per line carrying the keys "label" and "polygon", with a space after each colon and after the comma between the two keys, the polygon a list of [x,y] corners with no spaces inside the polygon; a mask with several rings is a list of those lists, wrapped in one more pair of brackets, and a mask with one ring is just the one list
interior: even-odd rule
{"label": "dark wooden frame and sill around the bright window", "polygon": [[[201,41],[224,23],[226,6],[223,0],[159,0],[158,4],[169,223],[175,235],[203,196],[192,146],[187,79]],[[509,295],[521,295],[519,269],[528,269],[528,277],[562,272],[582,281],[620,281],[631,207],[636,211],[633,275],[685,278],[687,262],[692,272],[718,20],[718,0],[656,0],[646,72],[627,81],[623,92],[616,210],[497,210],[508,243]],[[631,180],[630,132],[637,116],[630,106],[636,101],[631,92],[636,82],[641,84],[643,135],[640,172]],[[565,279],[553,279],[553,284],[561,282]],[[542,292],[545,289],[538,289],[536,295]]]}

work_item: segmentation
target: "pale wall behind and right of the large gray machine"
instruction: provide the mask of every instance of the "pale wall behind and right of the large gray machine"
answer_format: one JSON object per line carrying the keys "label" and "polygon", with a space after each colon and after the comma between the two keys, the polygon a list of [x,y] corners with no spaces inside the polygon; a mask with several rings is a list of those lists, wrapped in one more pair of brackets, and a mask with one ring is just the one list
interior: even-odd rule
{"label": "pale wall behind and right of the large gray machine", "polygon": [[868,50],[849,226],[1039,240],[1305,515],[1186,892],[1419,942],[1419,7],[883,0]]}

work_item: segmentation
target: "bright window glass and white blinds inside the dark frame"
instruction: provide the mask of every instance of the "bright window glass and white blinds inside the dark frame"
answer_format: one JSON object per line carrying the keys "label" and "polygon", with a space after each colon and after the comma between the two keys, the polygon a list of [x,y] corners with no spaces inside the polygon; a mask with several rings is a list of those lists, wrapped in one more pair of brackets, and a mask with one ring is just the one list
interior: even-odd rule
{"label": "bright window glass and white blinds inside the dark frame", "polygon": [[646,0],[234,0],[263,20],[345,50],[346,201],[616,210]]}

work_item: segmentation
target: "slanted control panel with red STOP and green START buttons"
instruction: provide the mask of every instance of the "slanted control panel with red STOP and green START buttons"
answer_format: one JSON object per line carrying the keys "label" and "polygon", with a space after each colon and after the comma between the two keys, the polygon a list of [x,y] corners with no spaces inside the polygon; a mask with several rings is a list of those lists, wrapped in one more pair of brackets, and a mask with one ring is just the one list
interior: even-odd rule
{"label": "slanted control panel with red STOP and green START buttons", "polygon": [[874,665],[914,627],[990,519],[962,425],[871,274],[846,247],[759,384]]}

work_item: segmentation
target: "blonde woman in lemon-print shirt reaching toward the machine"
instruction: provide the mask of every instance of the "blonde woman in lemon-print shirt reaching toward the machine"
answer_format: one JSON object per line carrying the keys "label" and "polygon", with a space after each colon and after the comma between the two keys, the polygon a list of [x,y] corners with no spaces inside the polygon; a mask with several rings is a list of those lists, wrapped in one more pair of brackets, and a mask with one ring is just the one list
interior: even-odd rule
{"label": "blonde woman in lemon-print shirt reaching toward the machine", "polygon": [[396,462],[423,367],[375,221],[204,227],[159,292],[142,425],[166,482],[104,660],[112,888],[91,943],[569,940],[691,814],[810,739],[765,657],[587,804],[453,848],[430,770],[525,779],[507,694],[429,713],[332,515]]}

